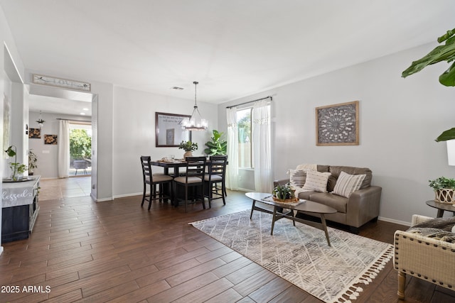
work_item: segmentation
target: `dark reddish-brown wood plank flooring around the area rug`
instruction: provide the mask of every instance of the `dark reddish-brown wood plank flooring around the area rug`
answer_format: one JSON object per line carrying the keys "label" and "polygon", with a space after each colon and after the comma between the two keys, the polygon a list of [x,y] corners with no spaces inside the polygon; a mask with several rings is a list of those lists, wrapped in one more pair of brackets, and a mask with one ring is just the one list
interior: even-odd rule
{"label": "dark reddish-brown wood plank flooring around the area rug", "polygon": [[[188,225],[249,209],[243,192],[228,192],[226,206],[218,199],[211,209],[196,204],[188,213],[162,202],[147,211],[140,202],[42,201],[31,238],[4,243],[0,303],[321,302]],[[406,228],[378,221],[360,235],[392,243],[395,230]],[[429,282],[407,284],[405,302],[455,302],[454,292]],[[396,292],[390,261],[355,302],[400,302]]]}

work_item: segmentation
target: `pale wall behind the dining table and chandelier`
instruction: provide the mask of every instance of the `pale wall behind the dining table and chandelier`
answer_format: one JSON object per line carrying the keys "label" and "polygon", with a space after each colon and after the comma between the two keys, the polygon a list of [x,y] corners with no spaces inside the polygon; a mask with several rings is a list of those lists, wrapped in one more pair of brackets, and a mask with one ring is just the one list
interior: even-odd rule
{"label": "pale wall behind the dining table and chandelier", "polygon": [[[193,101],[147,92],[114,87],[112,176],[114,197],[142,194],[142,172],[139,157],[150,155],[159,160],[167,155],[183,158],[184,150],[155,147],[155,112],[190,115]],[[205,155],[205,142],[213,129],[218,129],[215,104],[198,101],[201,116],[208,119],[208,131],[193,131],[192,141],[198,143],[193,155]],[[159,167],[153,167],[159,172]],[[162,170],[161,170],[162,171]]]}

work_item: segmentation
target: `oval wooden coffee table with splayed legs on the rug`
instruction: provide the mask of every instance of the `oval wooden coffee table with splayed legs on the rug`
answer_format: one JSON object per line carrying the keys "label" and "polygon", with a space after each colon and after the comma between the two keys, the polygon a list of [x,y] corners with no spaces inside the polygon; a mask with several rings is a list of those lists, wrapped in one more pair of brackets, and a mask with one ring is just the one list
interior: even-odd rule
{"label": "oval wooden coffee table with splayed legs on the rug", "polygon": [[[245,196],[247,196],[248,198],[253,200],[250,219],[253,216],[253,211],[262,211],[267,214],[272,214],[272,229],[270,230],[270,235],[273,235],[273,228],[275,225],[275,221],[277,221],[279,219],[287,218],[287,219],[291,219],[293,221],[294,226],[296,225],[296,221],[297,221],[297,222],[321,229],[321,231],[324,231],[324,233],[326,233],[326,239],[327,239],[328,246],[331,246],[330,238],[328,238],[326,217],[324,216],[324,214],[335,214],[336,209],[333,209],[330,206],[327,206],[327,205],[324,205],[321,203],[317,203],[317,202],[312,202],[309,200],[300,200],[299,202],[296,202],[296,203],[274,202],[273,199],[271,199],[272,195],[264,193],[264,192],[247,192],[245,194]],[[260,206],[257,206],[256,202],[261,202],[261,203],[273,206],[273,211],[269,211],[268,209],[264,209]],[[278,209],[289,209],[289,211],[287,211],[286,213],[283,213],[283,212],[279,212]],[[297,212],[305,211],[305,212],[310,212],[313,214],[319,214],[319,216],[321,217],[321,223],[296,218],[294,216],[294,210]]]}

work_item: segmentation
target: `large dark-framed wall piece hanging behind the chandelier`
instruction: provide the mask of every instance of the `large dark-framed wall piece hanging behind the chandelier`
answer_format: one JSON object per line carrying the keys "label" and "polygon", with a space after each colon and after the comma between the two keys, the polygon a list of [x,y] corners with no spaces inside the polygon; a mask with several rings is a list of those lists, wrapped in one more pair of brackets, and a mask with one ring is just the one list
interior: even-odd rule
{"label": "large dark-framed wall piece hanging behind the chandelier", "polygon": [[183,119],[190,115],[155,112],[155,146],[157,148],[178,147],[181,141],[191,141],[191,131],[181,128]]}

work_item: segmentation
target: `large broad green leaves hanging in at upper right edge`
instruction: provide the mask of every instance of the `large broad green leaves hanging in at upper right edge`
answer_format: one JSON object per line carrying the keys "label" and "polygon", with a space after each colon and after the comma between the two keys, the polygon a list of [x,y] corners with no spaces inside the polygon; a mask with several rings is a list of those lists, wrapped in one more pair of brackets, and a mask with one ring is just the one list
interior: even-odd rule
{"label": "large broad green leaves hanging in at upper right edge", "polygon": [[[411,66],[402,72],[403,78],[423,70],[424,67],[427,67],[428,65],[441,61],[450,63],[455,60],[455,28],[451,31],[447,31],[437,40],[438,43],[443,43],[445,41],[445,44],[437,46],[421,59],[412,62]],[[455,62],[439,76],[439,83],[446,87],[455,86]],[[455,139],[455,128],[444,131],[435,141],[448,141],[452,139]]]}

